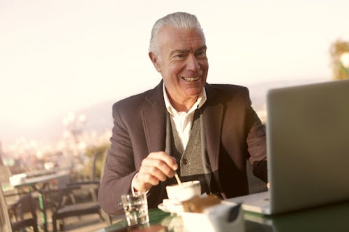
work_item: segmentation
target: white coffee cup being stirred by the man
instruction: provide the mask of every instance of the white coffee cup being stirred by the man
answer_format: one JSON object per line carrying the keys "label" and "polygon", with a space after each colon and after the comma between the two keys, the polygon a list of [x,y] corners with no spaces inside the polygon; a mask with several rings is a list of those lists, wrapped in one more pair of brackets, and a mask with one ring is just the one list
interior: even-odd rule
{"label": "white coffee cup being stirred by the man", "polygon": [[168,199],[172,201],[186,201],[193,196],[201,195],[201,185],[199,180],[182,182],[181,185],[166,186]]}

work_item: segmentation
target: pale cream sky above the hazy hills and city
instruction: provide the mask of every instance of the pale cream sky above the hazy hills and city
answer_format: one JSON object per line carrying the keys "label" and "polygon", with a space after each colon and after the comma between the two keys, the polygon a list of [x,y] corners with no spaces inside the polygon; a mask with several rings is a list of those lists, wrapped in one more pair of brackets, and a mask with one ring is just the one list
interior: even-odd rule
{"label": "pale cream sky above the hazy hills and city", "polygon": [[153,88],[150,31],[168,13],[200,20],[207,82],[248,85],[330,79],[329,45],[349,39],[348,9],[348,0],[2,0],[0,141]]}

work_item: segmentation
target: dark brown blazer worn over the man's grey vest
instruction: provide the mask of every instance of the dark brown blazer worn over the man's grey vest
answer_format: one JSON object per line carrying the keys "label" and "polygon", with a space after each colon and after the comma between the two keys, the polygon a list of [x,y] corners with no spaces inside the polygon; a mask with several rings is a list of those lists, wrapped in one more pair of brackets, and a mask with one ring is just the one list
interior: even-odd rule
{"label": "dark brown blazer worn over the man's grey vest", "polygon": [[[122,213],[121,194],[131,192],[131,180],[142,160],[165,150],[166,114],[163,82],[154,89],[120,100],[112,107],[114,127],[98,200],[105,212]],[[203,105],[207,154],[219,191],[230,198],[248,194],[246,160],[253,173],[267,181],[265,130],[251,107],[248,89],[227,84],[206,84]],[[149,208],[165,194],[163,183],[151,187]]]}

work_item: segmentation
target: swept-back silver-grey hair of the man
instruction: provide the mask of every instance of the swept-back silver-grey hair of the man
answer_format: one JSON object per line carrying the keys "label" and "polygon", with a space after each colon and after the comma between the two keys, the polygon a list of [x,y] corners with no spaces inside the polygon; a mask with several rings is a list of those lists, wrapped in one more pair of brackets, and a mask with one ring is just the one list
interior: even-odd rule
{"label": "swept-back silver-grey hair of the man", "polygon": [[200,22],[195,15],[185,12],[176,12],[162,17],[155,22],[153,29],[151,29],[149,52],[153,52],[156,56],[160,55],[160,47],[156,38],[158,37],[159,31],[165,26],[172,26],[175,29],[200,29],[202,31]]}

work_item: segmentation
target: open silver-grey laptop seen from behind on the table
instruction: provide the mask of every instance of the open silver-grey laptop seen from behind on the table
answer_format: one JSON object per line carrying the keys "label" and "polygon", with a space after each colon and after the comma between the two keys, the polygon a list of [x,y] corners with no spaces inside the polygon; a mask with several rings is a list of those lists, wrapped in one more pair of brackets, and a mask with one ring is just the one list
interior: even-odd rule
{"label": "open silver-grey laptop seen from behind on the table", "polygon": [[267,93],[268,192],[225,201],[264,215],[349,199],[349,80]]}

